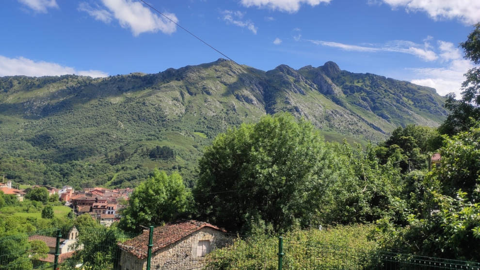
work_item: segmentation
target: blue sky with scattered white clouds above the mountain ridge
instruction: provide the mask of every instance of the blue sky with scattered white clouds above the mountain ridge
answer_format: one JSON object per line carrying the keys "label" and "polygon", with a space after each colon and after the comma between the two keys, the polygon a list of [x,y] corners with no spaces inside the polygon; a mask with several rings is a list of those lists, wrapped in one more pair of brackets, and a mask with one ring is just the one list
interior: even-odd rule
{"label": "blue sky with scattered white clouds above the mountain ridge", "polygon": [[[459,93],[479,0],[148,0],[240,64],[336,62]],[[222,57],[139,0],[4,0],[0,76],[157,73]]]}

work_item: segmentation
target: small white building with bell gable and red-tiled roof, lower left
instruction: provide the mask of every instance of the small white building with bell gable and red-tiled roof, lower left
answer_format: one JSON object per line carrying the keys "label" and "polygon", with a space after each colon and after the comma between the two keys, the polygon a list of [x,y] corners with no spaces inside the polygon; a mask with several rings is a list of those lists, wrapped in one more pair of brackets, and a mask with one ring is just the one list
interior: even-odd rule
{"label": "small white building with bell gable and red-tiled roof, lower left", "polygon": [[[64,261],[65,259],[71,257],[75,253],[75,244],[77,243],[77,238],[79,236],[79,231],[74,226],[68,232],[68,238],[60,238],[60,245],[59,245],[59,263]],[[39,261],[42,262],[49,262],[53,263],[55,259],[55,248],[57,244],[57,238],[51,236],[43,236],[43,235],[33,235],[28,238],[29,241],[33,240],[40,240],[45,242],[48,246],[48,254],[45,258],[39,258]]]}

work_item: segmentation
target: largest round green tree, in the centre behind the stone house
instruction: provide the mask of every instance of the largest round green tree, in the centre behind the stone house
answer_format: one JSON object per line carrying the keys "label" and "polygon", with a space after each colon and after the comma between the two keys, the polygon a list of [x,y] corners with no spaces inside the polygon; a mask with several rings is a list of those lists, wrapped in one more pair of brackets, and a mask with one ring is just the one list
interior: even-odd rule
{"label": "largest round green tree, in the centre behind the stone house", "polygon": [[196,209],[231,231],[250,224],[287,231],[312,221],[323,191],[339,179],[336,155],[313,125],[288,113],[219,134],[199,161]]}

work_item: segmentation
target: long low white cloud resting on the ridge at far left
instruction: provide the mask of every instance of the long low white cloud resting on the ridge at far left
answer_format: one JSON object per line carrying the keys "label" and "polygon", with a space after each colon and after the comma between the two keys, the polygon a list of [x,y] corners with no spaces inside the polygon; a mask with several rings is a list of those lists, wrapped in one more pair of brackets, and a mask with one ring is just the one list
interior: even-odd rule
{"label": "long low white cloud resting on the ridge at far left", "polygon": [[33,61],[24,57],[8,58],[0,55],[0,76],[57,76],[77,74],[93,78],[107,77],[108,74],[100,70],[76,70],[73,67],[57,63]]}

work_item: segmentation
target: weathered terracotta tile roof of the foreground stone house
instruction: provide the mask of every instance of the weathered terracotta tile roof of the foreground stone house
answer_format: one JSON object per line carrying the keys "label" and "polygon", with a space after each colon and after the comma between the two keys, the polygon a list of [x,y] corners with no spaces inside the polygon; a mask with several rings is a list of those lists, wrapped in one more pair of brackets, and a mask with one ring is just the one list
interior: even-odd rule
{"label": "weathered terracotta tile roof of the foreground stone house", "polygon": [[[187,221],[187,222],[178,222],[178,223],[169,223],[161,227],[156,227],[153,229],[153,247],[152,253],[158,251],[161,248],[164,248],[170,244],[175,243],[176,241],[204,228],[210,227],[222,232],[226,232],[224,229],[221,229],[215,225],[212,225],[207,222],[199,221]],[[119,243],[119,247],[124,251],[127,251],[139,259],[143,259],[147,256],[148,252],[148,235],[149,231],[144,230],[143,234],[137,236],[136,238],[130,239],[123,243]]]}

